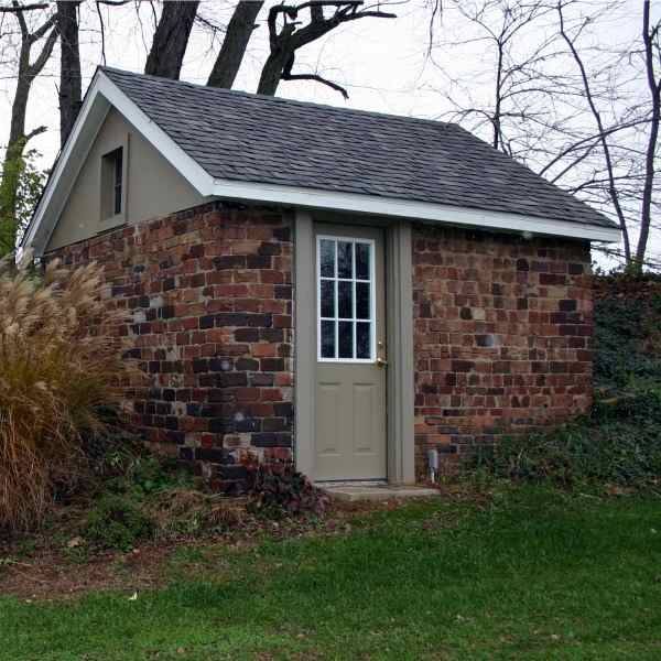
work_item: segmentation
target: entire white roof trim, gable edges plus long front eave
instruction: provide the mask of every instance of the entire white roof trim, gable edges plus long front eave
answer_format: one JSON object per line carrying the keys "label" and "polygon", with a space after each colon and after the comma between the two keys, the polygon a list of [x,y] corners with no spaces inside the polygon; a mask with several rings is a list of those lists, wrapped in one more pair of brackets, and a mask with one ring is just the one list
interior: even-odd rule
{"label": "entire white roof trim, gable edges plus long front eave", "polygon": [[620,238],[617,227],[375,195],[217,180],[150,119],[102,71],[98,69],[22,241],[22,246],[32,247],[36,256],[45,250],[80,167],[111,107],[117,108],[203,197],[392,216],[590,241],[618,241]]}

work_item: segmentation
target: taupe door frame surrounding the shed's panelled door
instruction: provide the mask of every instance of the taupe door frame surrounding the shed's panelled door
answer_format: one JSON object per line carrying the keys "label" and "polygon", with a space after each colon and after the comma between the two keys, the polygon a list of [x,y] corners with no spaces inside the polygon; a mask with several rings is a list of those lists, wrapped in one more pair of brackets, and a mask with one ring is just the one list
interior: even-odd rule
{"label": "taupe door frame surrounding the shed's panelled door", "polygon": [[[413,281],[411,225],[366,216],[328,216],[296,209],[294,219],[294,457],[296,469],[314,478],[315,375],[317,325],[316,241],[314,224],[378,226],[386,232],[386,316],[388,337],[387,468],[390,484],[412,484],[413,413]],[[301,286],[299,286],[301,283]],[[313,286],[310,286],[314,283]]]}

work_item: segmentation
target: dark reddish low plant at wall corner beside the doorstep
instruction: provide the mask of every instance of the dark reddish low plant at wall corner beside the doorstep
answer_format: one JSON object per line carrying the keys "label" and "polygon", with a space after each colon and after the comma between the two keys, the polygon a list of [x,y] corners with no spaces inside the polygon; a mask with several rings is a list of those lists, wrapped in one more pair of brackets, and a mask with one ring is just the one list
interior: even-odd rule
{"label": "dark reddish low plant at wall corner beside the doorstep", "polygon": [[248,457],[243,464],[250,476],[248,491],[253,511],[269,517],[325,511],[328,497],[291,462],[260,464]]}

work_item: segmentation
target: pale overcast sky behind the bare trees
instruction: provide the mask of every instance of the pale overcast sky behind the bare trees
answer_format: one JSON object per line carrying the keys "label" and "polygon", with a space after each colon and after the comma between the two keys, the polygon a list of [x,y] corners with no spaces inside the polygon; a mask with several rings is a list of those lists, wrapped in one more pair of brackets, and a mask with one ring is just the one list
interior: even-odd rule
{"label": "pale overcast sky behind the bare trees", "polygon": [[[661,0],[654,9],[661,9]],[[604,0],[597,0],[598,7]],[[227,23],[232,2],[207,0],[202,3],[201,14]],[[273,2],[267,2],[271,6]],[[342,25],[327,37],[304,50],[296,67],[303,72],[316,71],[344,85],[349,99],[312,82],[282,82],[278,94],[301,100],[378,110],[397,115],[424,118],[442,118],[449,106],[444,98],[447,79],[426,58],[429,42],[430,2],[409,0],[391,2],[389,10],[398,18],[364,19]],[[441,21],[436,22],[437,41],[454,41],[467,34],[466,24],[445,2]],[[87,30],[82,34],[83,85],[87,87],[94,71],[102,63],[100,32],[96,7],[87,2],[83,9],[83,23]],[[151,9],[147,3],[142,11],[143,25],[137,20],[132,4],[101,9],[106,32],[106,62],[109,66],[141,72],[151,44]],[[614,14],[602,28],[609,43],[631,39],[640,25],[641,1],[630,0],[622,11]],[[267,10],[262,9],[260,26],[253,33],[249,53],[243,62],[235,87],[254,91],[261,65],[268,54],[268,32],[264,22]],[[7,19],[6,19],[7,20]],[[182,78],[204,84],[213,66],[219,41],[213,41],[208,32],[196,28],[186,52]],[[479,98],[488,96],[488,79],[476,79],[474,72],[488,59],[484,46],[474,44],[462,48],[437,48],[435,59],[452,75],[470,86]],[[37,137],[31,147],[43,154],[43,165],[50,166],[58,150],[58,108],[56,85],[58,80],[57,57],[46,66],[34,85],[28,113],[28,130],[46,124],[48,130]],[[484,67],[483,67],[484,68]],[[7,65],[0,80],[0,117],[4,131],[9,130],[11,99],[14,80]],[[485,137],[485,136],[480,136]],[[7,140],[6,137],[2,138]],[[657,241],[654,241],[655,248]]]}

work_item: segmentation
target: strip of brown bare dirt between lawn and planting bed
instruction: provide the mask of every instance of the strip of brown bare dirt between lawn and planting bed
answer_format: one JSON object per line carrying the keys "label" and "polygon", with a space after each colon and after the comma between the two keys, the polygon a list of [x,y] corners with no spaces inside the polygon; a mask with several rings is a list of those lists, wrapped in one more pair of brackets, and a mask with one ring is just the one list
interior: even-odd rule
{"label": "strip of brown bare dirt between lawn and planting bed", "polygon": [[264,539],[346,534],[354,519],[398,507],[401,505],[394,501],[334,503],[321,520],[252,518],[223,535],[141,543],[129,552],[95,552],[79,538],[66,539],[66,527],[56,527],[56,535],[40,533],[0,540],[0,594],[25,600],[52,600],[117,589],[127,590],[130,596],[167,583],[174,565],[180,570],[204,568],[205,557]]}

